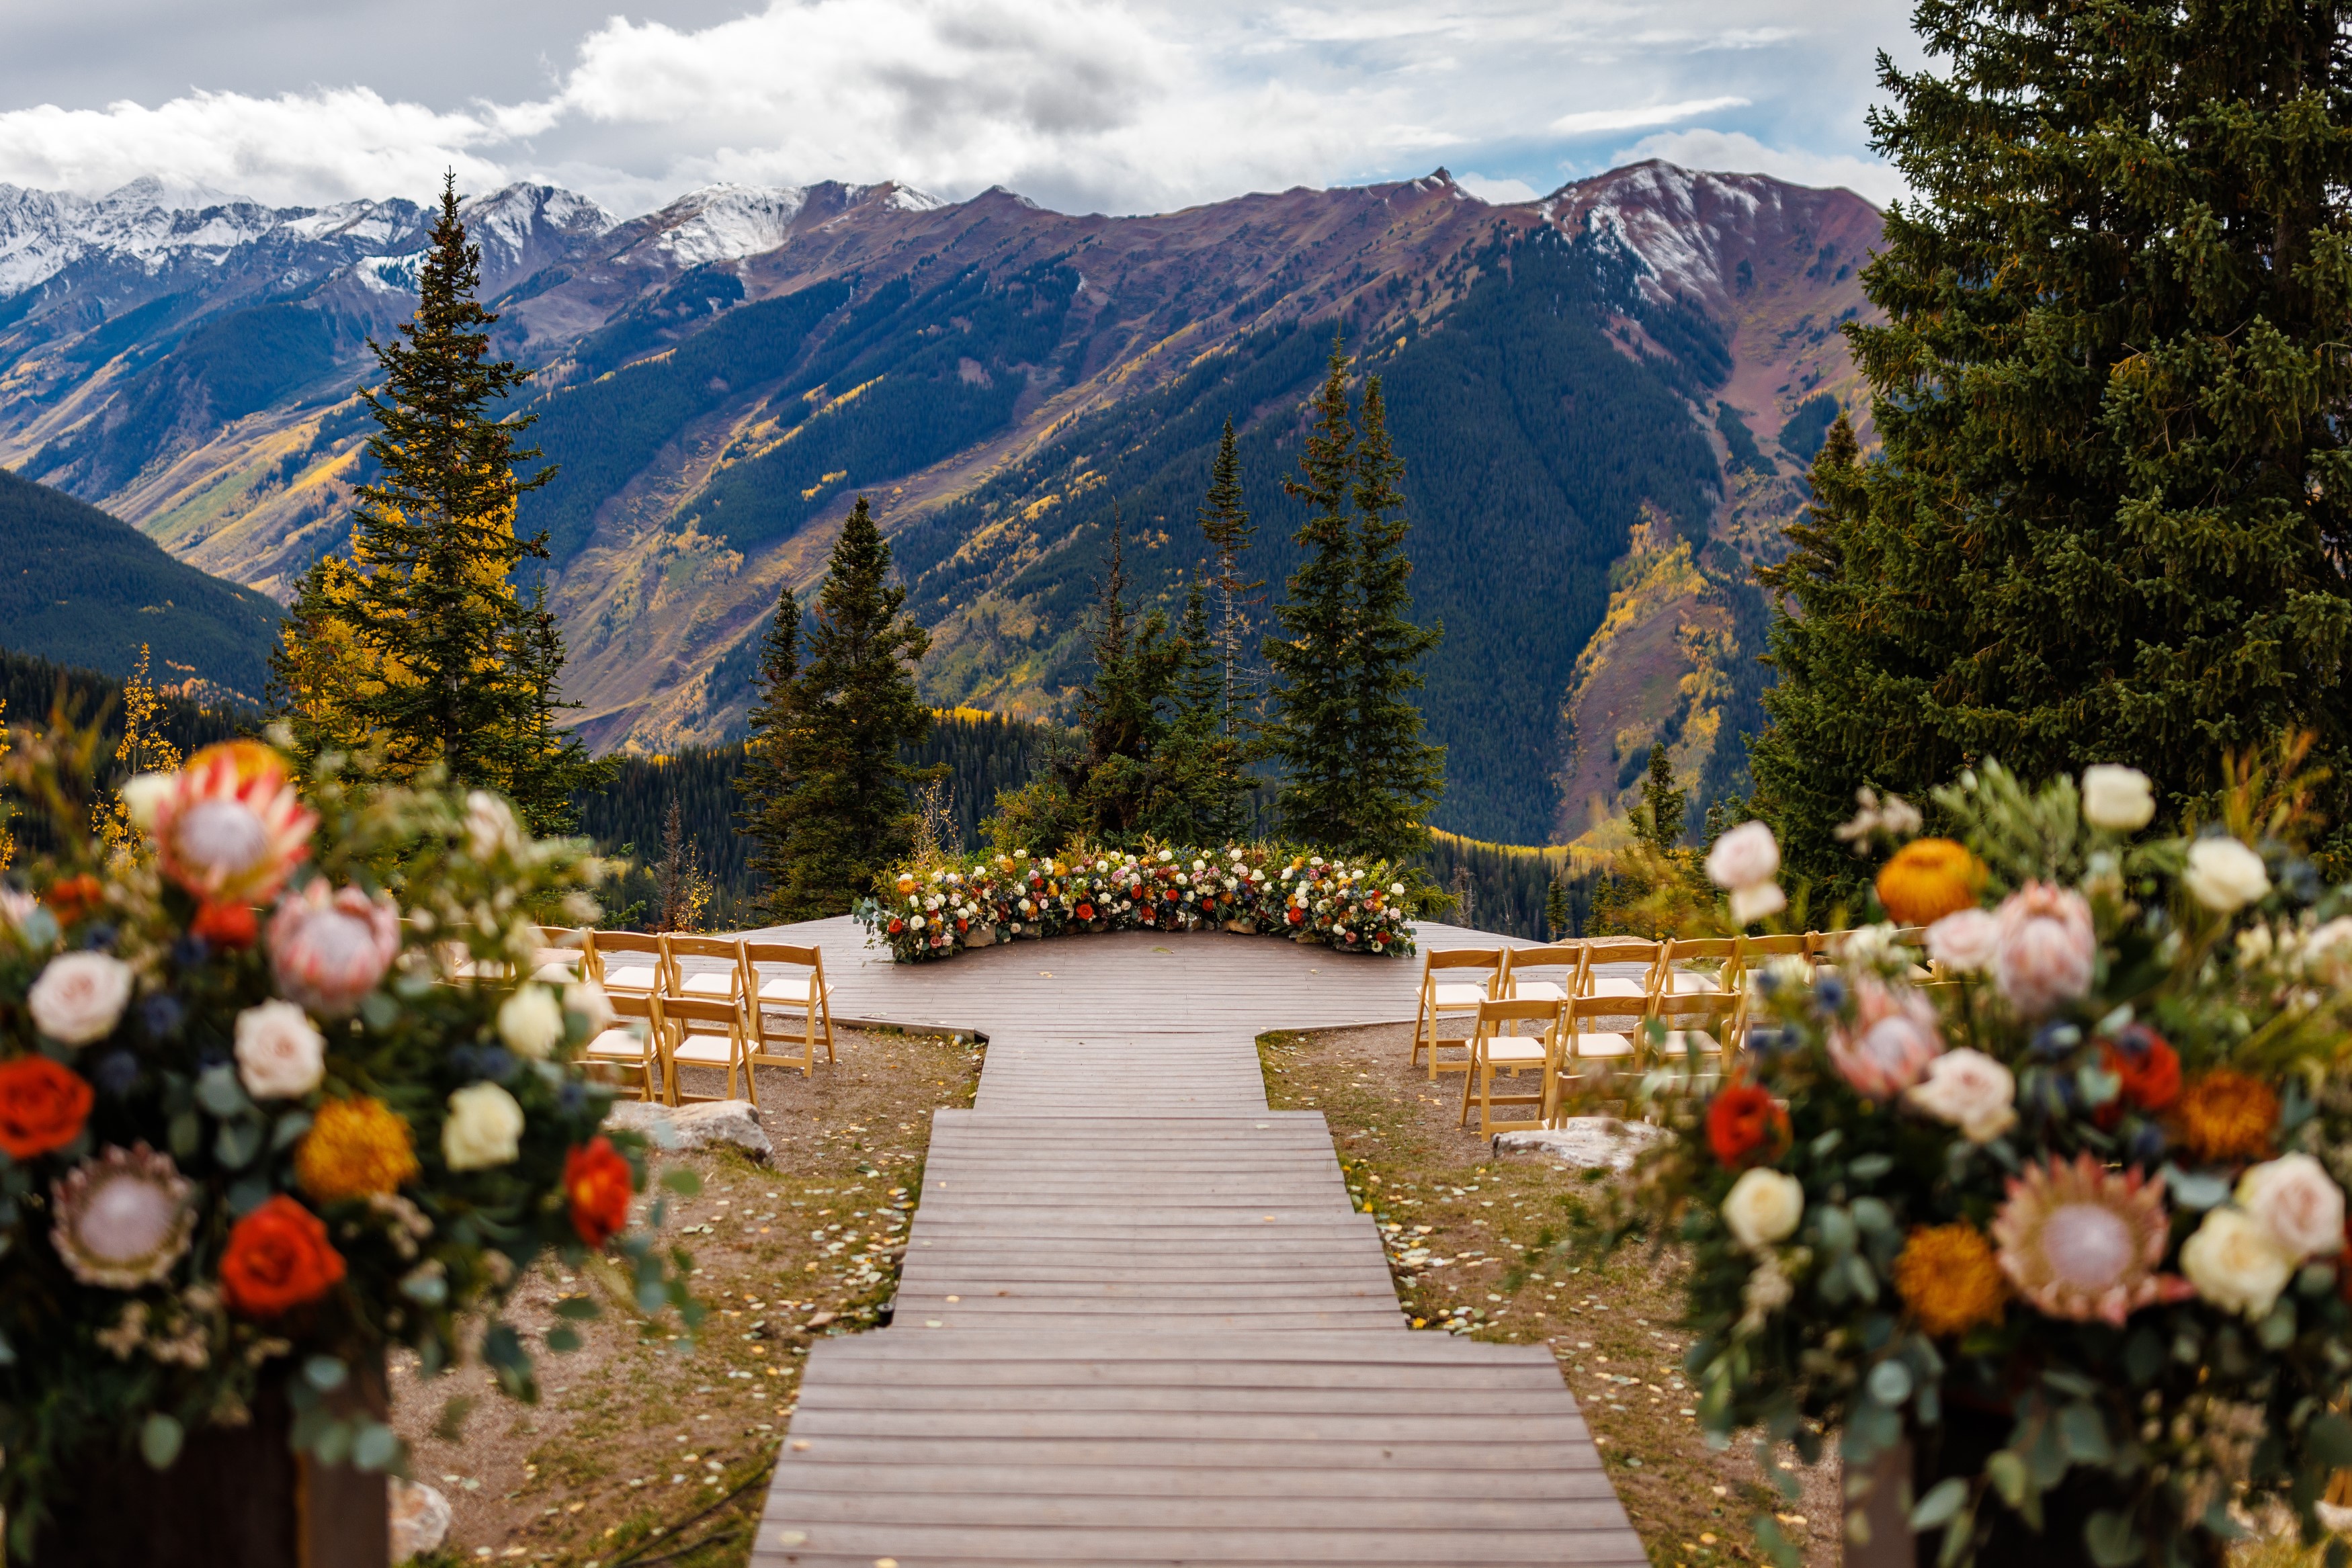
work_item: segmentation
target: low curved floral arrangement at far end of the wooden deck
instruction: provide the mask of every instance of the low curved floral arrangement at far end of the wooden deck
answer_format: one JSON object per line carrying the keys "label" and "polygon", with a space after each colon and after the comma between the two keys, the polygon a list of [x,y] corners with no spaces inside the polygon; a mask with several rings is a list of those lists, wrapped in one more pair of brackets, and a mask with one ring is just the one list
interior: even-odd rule
{"label": "low curved floral arrangement at far end of the wooden deck", "polygon": [[1282,844],[1028,851],[910,863],[854,914],[901,964],[1080,931],[1289,936],[1341,952],[1411,954],[1411,893],[1385,860],[1348,865]]}

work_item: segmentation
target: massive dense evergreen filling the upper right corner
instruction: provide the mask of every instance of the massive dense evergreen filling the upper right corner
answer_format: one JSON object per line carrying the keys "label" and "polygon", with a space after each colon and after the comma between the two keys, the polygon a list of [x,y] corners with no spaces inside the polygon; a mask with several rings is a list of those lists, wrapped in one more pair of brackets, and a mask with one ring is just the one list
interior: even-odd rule
{"label": "massive dense evergreen filling the upper right corner", "polygon": [[1872,118],[1919,195],[1846,329],[1884,451],[1771,581],[1757,785],[1797,870],[1839,863],[1816,795],[1978,757],[2126,762],[2178,813],[2307,729],[2347,818],[2347,21],[1919,5],[1940,59],[1882,66]]}

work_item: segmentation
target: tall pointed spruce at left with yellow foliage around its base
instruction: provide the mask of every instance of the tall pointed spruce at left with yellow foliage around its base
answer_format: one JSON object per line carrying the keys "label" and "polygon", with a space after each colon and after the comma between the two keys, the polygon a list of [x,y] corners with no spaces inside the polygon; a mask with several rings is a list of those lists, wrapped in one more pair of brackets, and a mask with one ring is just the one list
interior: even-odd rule
{"label": "tall pointed spruce at left with yellow foliage around its base", "polygon": [[517,538],[515,501],[555,470],[515,477],[539,456],[515,447],[532,416],[496,418],[492,404],[529,371],[489,357],[499,317],[475,301],[480,273],[449,176],[416,313],[400,341],[369,341],[383,386],[360,395],[381,477],[358,487],[350,559],[325,557],[299,583],[270,682],[299,750],[372,741],[390,778],[440,764],[550,832],[572,825],[572,795],[597,769],[555,724],[555,621],[513,581],[548,555],[543,538]]}

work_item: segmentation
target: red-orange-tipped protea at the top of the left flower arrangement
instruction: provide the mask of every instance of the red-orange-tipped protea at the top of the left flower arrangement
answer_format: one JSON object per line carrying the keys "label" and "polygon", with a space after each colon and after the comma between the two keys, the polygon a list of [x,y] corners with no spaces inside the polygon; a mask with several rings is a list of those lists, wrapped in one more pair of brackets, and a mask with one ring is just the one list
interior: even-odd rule
{"label": "red-orange-tipped protea at the top of the left flower arrangement", "polygon": [[155,804],[162,875],[214,903],[266,903],[310,853],[318,813],[259,741],[207,745]]}

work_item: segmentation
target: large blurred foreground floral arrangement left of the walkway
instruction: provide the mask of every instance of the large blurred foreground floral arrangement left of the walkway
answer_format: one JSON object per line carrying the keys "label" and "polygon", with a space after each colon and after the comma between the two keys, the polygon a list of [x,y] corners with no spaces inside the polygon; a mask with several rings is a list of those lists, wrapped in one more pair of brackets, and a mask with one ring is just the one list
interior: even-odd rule
{"label": "large blurred foreground floral arrangement left of the walkway", "polygon": [[550,1251],[691,1328],[684,1255],[628,1229],[644,1145],[597,1131],[612,1091],[574,1060],[612,1011],[532,976],[539,922],[597,914],[583,842],[532,842],[485,792],[294,780],[238,741],[127,780],[139,837],[108,851],[71,790],[87,738],[16,741],[0,788],[54,851],[0,886],[12,1552],[78,1455],[136,1439],[162,1469],[263,1380],[299,1450],[397,1472],[393,1429],[329,1394],[390,1345],[437,1375],[470,1316],[534,1399],[496,1314]]}

